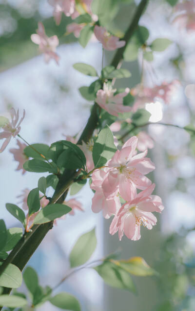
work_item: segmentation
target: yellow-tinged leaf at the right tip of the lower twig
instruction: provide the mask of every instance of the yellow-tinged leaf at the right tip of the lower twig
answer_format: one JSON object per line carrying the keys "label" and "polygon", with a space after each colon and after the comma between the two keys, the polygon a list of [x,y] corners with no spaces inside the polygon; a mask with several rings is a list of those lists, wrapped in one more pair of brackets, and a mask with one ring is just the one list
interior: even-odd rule
{"label": "yellow-tinged leaf at the right tip of the lower twig", "polygon": [[156,271],[152,269],[141,257],[132,257],[128,260],[113,261],[116,265],[123,268],[127,272],[137,276],[154,275]]}

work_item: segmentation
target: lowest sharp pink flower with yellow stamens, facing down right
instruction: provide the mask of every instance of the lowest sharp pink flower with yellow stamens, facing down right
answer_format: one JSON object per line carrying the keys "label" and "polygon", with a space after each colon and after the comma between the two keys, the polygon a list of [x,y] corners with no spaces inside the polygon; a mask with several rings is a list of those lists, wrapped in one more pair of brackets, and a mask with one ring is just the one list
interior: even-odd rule
{"label": "lowest sharp pink flower with yellow stamens, facing down right", "polygon": [[164,209],[162,200],[157,196],[152,196],[155,188],[153,183],[150,187],[141,191],[138,195],[129,196],[129,200],[123,204],[110,225],[110,234],[118,231],[119,240],[123,234],[128,239],[137,241],[140,239],[140,226],[143,225],[149,230],[156,225],[156,217],[152,212],[161,213]]}

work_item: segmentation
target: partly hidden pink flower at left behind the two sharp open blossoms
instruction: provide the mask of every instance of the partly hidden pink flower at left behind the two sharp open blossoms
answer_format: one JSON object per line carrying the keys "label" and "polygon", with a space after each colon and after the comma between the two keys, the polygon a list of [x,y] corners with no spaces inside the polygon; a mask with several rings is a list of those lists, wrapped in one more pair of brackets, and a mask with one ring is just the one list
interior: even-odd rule
{"label": "partly hidden pink flower at left behind the two sharp open blossoms", "polygon": [[119,211],[121,204],[119,197],[116,195],[112,199],[106,199],[103,189],[101,187],[103,178],[105,177],[105,170],[96,170],[92,174],[91,189],[96,193],[92,199],[92,211],[99,213],[102,211],[103,217],[108,219],[113,214],[116,215]]}

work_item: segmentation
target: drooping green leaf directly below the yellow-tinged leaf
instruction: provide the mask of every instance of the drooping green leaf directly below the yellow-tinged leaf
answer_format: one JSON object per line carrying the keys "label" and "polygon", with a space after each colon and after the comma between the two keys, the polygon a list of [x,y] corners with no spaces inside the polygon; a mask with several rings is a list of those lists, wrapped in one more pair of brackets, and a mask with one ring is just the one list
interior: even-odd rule
{"label": "drooping green leaf directly below the yellow-tinged leaf", "polygon": [[137,293],[136,286],[130,274],[121,267],[116,266],[110,261],[106,261],[102,265],[94,267],[94,269],[106,284],[118,289],[127,289],[133,293]]}

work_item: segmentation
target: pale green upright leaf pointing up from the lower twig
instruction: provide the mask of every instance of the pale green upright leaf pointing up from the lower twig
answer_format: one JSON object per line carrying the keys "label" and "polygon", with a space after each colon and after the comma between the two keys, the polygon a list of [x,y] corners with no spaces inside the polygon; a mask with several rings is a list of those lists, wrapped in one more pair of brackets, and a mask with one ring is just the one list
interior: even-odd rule
{"label": "pale green upright leaf pointing up from the lower twig", "polygon": [[96,245],[96,228],[81,235],[70,253],[71,267],[78,267],[86,263],[93,254]]}

